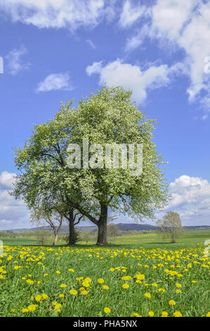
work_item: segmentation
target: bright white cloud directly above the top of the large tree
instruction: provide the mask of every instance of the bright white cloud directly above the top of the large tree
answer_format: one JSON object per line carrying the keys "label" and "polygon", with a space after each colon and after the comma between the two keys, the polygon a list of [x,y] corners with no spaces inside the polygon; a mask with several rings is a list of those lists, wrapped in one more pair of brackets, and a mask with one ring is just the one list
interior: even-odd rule
{"label": "bright white cloud directly above the top of the large tree", "polygon": [[100,75],[100,85],[107,83],[108,86],[122,85],[125,89],[133,91],[133,99],[138,102],[145,101],[148,89],[157,89],[169,85],[176,73],[182,70],[181,63],[168,65],[150,65],[149,68],[142,70],[138,65],[123,63],[117,59],[103,66],[103,61],[93,62],[88,65],[86,73]]}

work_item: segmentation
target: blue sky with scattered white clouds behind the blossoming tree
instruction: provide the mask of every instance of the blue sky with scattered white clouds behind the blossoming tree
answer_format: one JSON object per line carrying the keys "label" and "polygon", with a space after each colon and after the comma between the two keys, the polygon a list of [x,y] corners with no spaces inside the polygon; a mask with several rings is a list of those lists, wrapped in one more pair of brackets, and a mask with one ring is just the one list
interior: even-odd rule
{"label": "blue sky with scattered white clouds behind the blossoming tree", "polygon": [[210,225],[209,17],[204,0],[0,0],[0,230],[31,226],[25,205],[8,195],[11,147],[23,146],[60,101],[77,104],[105,82],[132,89],[157,119],[172,194],[165,211],[184,225]]}

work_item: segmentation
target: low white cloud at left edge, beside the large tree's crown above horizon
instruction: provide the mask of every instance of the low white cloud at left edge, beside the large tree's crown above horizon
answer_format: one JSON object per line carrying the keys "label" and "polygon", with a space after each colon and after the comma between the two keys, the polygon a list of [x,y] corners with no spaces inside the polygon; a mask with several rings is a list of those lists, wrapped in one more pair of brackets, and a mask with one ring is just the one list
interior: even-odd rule
{"label": "low white cloud at left edge, beside the large tree's crown above horizon", "polygon": [[11,227],[27,227],[29,213],[21,200],[15,200],[9,192],[13,189],[15,173],[3,171],[0,175],[0,230]]}

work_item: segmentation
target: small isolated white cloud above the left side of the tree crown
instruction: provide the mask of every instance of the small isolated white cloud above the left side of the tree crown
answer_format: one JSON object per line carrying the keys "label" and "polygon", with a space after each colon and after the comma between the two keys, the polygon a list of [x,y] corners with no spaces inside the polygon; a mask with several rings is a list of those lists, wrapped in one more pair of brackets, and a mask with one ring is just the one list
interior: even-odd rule
{"label": "small isolated white cloud above the left side of the tree crown", "polygon": [[70,75],[68,73],[54,73],[48,75],[42,82],[39,82],[37,92],[48,92],[58,89],[72,90]]}

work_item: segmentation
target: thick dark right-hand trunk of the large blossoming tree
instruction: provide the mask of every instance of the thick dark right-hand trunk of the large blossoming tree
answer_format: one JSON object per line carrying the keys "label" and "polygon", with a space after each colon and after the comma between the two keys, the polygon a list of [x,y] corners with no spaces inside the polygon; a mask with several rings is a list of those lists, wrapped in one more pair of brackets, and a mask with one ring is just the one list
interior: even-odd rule
{"label": "thick dark right-hand trunk of the large blossoming tree", "polygon": [[101,204],[100,207],[100,219],[98,220],[98,239],[97,245],[107,244],[107,215],[108,207],[106,204]]}

